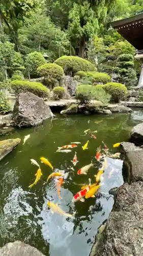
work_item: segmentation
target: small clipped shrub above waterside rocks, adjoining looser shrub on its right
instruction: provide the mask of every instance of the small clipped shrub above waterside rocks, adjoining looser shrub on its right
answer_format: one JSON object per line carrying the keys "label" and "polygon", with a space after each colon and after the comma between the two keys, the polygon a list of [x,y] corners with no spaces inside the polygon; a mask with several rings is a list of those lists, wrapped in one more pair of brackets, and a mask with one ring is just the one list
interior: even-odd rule
{"label": "small clipped shrub above waterside rocks, adjoining looser shrub on its right", "polygon": [[75,89],[75,97],[81,103],[90,102],[92,99],[92,87],[90,84],[81,84]]}

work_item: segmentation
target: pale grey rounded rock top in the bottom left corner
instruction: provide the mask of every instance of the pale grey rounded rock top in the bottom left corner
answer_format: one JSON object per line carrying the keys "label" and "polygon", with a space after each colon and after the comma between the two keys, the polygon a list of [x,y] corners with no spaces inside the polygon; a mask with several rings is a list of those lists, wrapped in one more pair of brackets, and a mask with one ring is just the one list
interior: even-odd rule
{"label": "pale grey rounded rock top in the bottom left corner", "polygon": [[44,256],[44,254],[38,251],[35,247],[24,244],[20,241],[14,243],[8,243],[0,248],[1,256]]}

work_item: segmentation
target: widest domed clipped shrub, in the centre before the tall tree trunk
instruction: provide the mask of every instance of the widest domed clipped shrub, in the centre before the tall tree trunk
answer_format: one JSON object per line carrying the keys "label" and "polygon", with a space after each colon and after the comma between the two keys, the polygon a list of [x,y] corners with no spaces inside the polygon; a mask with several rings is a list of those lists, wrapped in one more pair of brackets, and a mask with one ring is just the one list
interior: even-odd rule
{"label": "widest domed clipped shrub, in the centre before the tall tree trunk", "polygon": [[72,76],[78,71],[96,71],[95,66],[88,60],[76,56],[62,56],[54,61],[61,66],[66,74]]}

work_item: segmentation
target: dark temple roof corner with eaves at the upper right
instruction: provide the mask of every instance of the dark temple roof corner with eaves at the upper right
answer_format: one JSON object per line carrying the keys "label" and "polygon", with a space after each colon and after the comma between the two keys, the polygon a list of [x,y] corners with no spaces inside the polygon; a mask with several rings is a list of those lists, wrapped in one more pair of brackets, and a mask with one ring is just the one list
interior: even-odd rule
{"label": "dark temple roof corner with eaves at the upper right", "polygon": [[143,50],[143,13],[111,22],[110,25],[137,50]]}

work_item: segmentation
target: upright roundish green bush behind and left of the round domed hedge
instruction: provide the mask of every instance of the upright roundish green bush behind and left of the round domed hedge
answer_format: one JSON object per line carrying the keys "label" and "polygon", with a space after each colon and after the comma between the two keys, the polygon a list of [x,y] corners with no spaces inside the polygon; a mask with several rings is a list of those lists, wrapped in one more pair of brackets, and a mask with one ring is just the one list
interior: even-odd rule
{"label": "upright roundish green bush behind and left of the round domed hedge", "polygon": [[31,52],[27,54],[25,59],[27,73],[30,74],[31,77],[37,77],[37,69],[39,66],[46,63],[42,53],[40,52]]}

